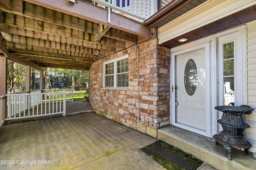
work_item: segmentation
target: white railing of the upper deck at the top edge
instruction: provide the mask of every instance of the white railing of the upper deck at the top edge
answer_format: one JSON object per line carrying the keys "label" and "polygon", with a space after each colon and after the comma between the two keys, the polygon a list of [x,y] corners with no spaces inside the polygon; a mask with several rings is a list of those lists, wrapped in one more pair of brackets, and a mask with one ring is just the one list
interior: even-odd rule
{"label": "white railing of the upper deck at the top edge", "polygon": [[[143,22],[157,12],[157,0],[93,0],[103,8],[112,9],[128,18]],[[109,16],[110,17],[110,16]]]}

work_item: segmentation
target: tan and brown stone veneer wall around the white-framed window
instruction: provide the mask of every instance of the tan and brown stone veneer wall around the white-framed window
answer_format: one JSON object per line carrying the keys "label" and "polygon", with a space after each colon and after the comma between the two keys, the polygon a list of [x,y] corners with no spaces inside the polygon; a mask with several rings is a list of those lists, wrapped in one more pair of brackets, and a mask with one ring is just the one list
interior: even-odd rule
{"label": "tan and brown stone veneer wall around the white-framed window", "polygon": [[[103,88],[103,64],[128,54],[128,90]],[[90,67],[90,104],[94,112],[156,137],[156,129],[169,125],[170,49],[157,39],[95,61]]]}

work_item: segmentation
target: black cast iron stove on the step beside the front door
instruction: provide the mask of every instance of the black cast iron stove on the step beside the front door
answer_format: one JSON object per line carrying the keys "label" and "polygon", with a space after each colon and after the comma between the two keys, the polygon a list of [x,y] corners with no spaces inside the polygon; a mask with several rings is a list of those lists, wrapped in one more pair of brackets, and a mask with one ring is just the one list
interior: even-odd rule
{"label": "black cast iron stove on the step beside the front door", "polygon": [[242,148],[248,154],[248,149],[252,145],[244,138],[244,129],[250,125],[244,123],[242,115],[251,114],[254,109],[250,106],[216,106],[215,109],[222,111],[222,117],[217,122],[221,124],[223,131],[218,135],[213,135],[216,144],[223,145],[227,151],[228,159],[231,159],[232,147]]}

